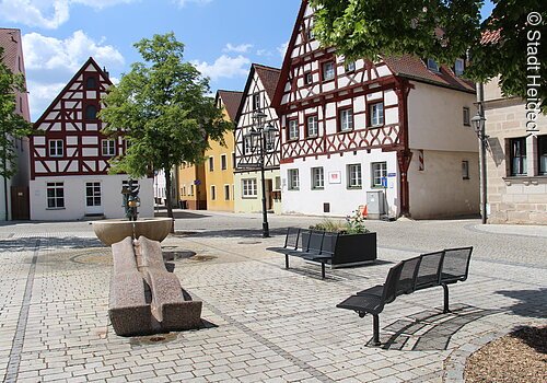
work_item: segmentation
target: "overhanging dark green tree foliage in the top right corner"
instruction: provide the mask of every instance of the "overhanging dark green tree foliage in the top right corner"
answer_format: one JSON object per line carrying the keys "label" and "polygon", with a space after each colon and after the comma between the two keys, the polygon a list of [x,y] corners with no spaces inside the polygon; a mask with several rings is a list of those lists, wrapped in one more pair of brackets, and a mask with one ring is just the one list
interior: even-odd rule
{"label": "overhanging dark green tree foliage in the top right corner", "polygon": [[[547,49],[534,37],[547,36],[545,0],[492,0],[492,14],[480,22],[484,0],[310,0],[315,34],[351,58],[416,55],[453,65],[469,54],[465,76],[487,82],[500,76],[504,95],[526,98],[529,76],[547,105]],[[533,13],[535,12],[535,13]],[[543,20],[543,22],[542,22]],[[482,36],[489,36],[488,40]],[[540,45],[540,44],[539,44]],[[529,56],[542,65],[531,66]]]}

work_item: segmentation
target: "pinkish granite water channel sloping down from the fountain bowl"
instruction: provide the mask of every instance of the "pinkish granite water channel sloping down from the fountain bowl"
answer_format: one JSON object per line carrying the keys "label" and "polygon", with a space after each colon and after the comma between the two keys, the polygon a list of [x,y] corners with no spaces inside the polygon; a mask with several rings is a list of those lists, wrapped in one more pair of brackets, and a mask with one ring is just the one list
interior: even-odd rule
{"label": "pinkish granite water channel sloping down from the fountain bowl", "polygon": [[199,328],[202,302],[193,301],[168,272],[160,242],[130,236],[112,245],[108,316],[117,335],[149,335]]}

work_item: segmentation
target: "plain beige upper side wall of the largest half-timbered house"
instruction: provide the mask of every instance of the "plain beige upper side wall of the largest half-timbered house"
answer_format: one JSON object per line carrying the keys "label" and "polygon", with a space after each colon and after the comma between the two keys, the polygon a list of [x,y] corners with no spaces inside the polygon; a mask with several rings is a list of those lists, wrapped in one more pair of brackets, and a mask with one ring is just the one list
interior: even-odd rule
{"label": "plain beige upper side wall of the largest half-timbered house", "polygon": [[410,149],[478,152],[477,136],[464,126],[463,108],[476,113],[475,94],[412,82],[408,95]]}

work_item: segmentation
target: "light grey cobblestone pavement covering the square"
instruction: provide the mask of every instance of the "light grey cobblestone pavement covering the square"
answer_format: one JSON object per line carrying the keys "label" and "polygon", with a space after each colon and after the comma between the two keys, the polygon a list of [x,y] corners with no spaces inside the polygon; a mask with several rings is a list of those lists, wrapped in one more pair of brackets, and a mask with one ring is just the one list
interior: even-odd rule
{"label": "light grey cobblestone pavement covering the square", "polygon": [[[0,227],[0,380],[4,382],[458,382],[465,358],[520,325],[547,323],[547,230],[477,220],[369,222],[375,265],[321,269],[266,251],[283,228],[321,218],[177,211],[163,243],[175,272],[203,301],[205,328],[117,337],[108,323],[112,255],[89,222]],[[475,246],[470,277],[397,298],[372,318],[335,305],[382,283],[421,252]],[[188,252],[194,252],[189,256]],[[418,320],[418,321],[417,321]]]}

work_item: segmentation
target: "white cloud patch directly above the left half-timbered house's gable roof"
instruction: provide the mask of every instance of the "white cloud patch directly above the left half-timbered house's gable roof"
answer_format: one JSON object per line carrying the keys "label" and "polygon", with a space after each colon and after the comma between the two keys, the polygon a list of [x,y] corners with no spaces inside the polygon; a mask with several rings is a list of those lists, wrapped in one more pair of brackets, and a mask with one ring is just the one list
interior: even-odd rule
{"label": "white cloud patch directly above the left half-timbered house's gable roof", "polygon": [[95,42],[82,31],[66,39],[30,33],[23,35],[23,50],[33,120],[44,113],[89,57],[106,68],[123,69],[125,62],[115,47],[103,40]]}

